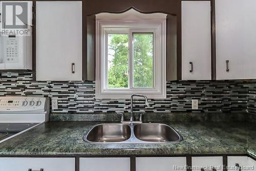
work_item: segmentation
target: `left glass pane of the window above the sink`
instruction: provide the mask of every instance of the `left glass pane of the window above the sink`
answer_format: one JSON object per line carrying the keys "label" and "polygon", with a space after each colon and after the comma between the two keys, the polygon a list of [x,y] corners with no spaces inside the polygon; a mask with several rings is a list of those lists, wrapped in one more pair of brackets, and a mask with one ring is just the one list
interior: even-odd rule
{"label": "left glass pane of the window above the sink", "polygon": [[128,88],[128,34],[108,34],[108,88]]}

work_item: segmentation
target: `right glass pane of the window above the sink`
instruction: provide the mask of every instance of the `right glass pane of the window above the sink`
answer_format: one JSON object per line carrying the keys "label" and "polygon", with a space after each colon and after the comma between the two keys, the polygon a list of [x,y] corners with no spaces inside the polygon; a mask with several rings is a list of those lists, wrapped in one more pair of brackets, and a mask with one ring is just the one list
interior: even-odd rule
{"label": "right glass pane of the window above the sink", "polygon": [[153,33],[133,34],[133,87],[153,88]]}

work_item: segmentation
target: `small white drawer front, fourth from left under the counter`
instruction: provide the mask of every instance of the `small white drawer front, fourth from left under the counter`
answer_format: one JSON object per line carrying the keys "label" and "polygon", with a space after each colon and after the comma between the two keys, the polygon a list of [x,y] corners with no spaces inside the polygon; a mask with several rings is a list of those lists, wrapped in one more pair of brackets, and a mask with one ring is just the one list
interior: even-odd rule
{"label": "small white drawer front, fourth from left under the counter", "polygon": [[192,170],[201,171],[203,170],[217,170],[222,171],[222,157],[221,156],[212,156],[212,157],[192,157]]}

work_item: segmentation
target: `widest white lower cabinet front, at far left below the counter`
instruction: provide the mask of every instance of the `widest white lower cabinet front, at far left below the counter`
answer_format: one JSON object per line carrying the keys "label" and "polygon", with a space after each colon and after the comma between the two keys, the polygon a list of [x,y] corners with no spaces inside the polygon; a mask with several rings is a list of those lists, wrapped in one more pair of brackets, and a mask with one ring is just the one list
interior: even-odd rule
{"label": "widest white lower cabinet front, at far left below the counter", "polygon": [[0,170],[75,171],[75,158],[0,157]]}

